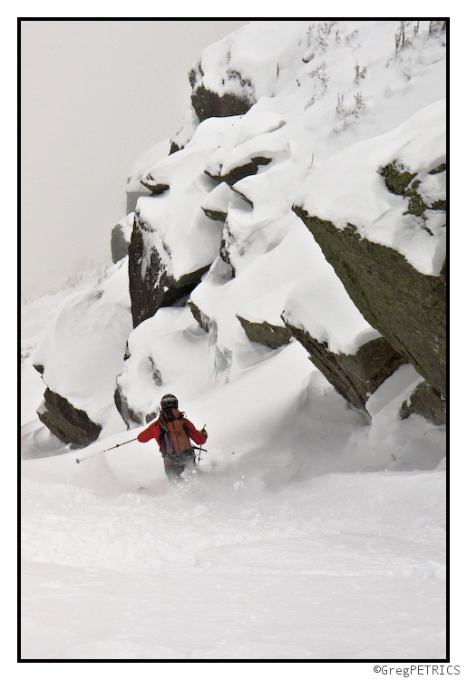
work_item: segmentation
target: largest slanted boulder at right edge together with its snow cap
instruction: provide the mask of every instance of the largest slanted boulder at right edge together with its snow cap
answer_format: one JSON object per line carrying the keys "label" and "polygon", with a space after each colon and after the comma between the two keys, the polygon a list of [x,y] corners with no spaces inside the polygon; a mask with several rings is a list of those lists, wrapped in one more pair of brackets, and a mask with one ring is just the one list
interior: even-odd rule
{"label": "largest slanted boulder at right edge together with its snow cap", "polygon": [[445,153],[445,102],[434,102],[326,160],[295,207],[365,319],[442,395]]}

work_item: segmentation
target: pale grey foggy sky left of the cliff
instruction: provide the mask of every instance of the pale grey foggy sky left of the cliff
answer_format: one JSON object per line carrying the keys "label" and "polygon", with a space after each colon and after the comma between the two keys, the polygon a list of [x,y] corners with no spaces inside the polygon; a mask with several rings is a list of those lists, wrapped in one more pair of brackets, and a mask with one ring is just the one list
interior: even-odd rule
{"label": "pale grey foggy sky left of the cliff", "polygon": [[245,23],[21,22],[22,300],[111,261],[135,160],[179,130],[202,50]]}

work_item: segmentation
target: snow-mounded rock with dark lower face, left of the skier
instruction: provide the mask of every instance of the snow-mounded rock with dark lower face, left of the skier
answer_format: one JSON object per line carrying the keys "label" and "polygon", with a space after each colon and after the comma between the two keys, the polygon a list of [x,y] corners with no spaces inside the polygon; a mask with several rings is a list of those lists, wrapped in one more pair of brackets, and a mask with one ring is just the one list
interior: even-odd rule
{"label": "snow-mounded rock with dark lower face, left of the skier", "polygon": [[113,392],[131,331],[127,262],[56,306],[35,350],[47,388],[39,417],[63,442],[89,444],[120,419]]}

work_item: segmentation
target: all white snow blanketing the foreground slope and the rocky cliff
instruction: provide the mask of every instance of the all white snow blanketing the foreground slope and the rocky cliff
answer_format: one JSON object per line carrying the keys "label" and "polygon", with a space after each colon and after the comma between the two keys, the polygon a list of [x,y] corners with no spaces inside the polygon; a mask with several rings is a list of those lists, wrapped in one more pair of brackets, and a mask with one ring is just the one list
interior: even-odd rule
{"label": "all white snow blanketing the foreground slope and the rocky cliff", "polygon": [[[258,103],[196,131],[189,110],[176,137],[186,148],[161,159],[167,144],[155,145],[129,183],[170,183],[137,210],[148,248],[170,253],[176,277],[219,252],[222,226],[202,208],[229,210],[223,236],[236,277],[217,257],[191,295],[209,332],[188,306],[131,330],[126,258],[99,281],[22,307],[25,660],[446,655],[445,432],[398,417],[422,377],[401,366],[368,400],[370,420],[297,341],[252,344],[237,318],[280,325],[285,310],[335,352],[378,335],[291,211],[300,199],[336,223],[345,207],[366,235],[436,275],[443,226],[429,237],[403,219],[403,199],[377,170],[396,154],[422,170],[421,190],[433,183],[443,41],[428,21],[395,54],[392,20],[252,24],[209,47],[202,64],[204,82],[221,91],[228,54]],[[204,173],[262,155],[271,163],[235,190]],[[364,205],[355,159],[359,176],[373,173]],[[395,233],[389,213],[402,219]],[[44,382],[33,362],[44,364]],[[197,427],[207,424],[205,474],[170,488],[154,442],[101,453],[142,429],[135,420],[127,431],[115,381],[141,423],[171,392]],[[97,442],[73,451],[40,423],[44,383],[102,423]]]}

